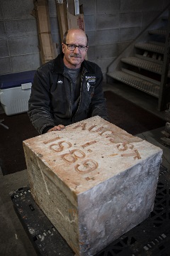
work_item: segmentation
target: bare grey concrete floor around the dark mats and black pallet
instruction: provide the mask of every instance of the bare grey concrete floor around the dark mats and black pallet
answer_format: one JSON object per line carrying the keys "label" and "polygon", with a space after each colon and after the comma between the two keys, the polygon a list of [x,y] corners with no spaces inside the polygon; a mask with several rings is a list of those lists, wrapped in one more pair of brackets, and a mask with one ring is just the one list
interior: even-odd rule
{"label": "bare grey concrete floor around the dark mats and black pallet", "polygon": [[[143,107],[164,119],[164,112],[159,112],[157,110],[157,99],[146,95],[144,92],[140,92],[126,85],[104,85],[104,90],[113,90],[113,92],[118,95],[125,97],[136,105],[140,105],[140,107]],[[0,109],[0,111],[3,112],[2,109]],[[164,152],[162,164],[167,169],[170,169],[170,147],[164,146],[161,143],[160,138],[162,137],[162,130],[164,130],[164,127],[144,132],[142,134],[137,134],[136,136],[162,148]],[[26,231],[18,220],[16,212],[13,209],[11,197],[9,196],[11,191],[15,191],[18,188],[27,186],[28,184],[27,170],[18,171],[15,174],[7,176],[3,176],[2,173],[0,173],[0,255],[2,256],[37,255],[33,245],[26,235]]]}

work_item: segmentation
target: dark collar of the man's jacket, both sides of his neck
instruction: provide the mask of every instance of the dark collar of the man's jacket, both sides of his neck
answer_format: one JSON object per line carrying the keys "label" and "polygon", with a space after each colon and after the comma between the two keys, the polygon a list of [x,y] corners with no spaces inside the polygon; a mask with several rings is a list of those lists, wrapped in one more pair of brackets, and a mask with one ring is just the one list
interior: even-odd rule
{"label": "dark collar of the man's jacket, both sides of his neck", "polygon": [[[60,53],[59,55],[57,55],[57,58],[54,59],[52,73],[63,73],[64,72],[63,57],[64,57],[64,54]],[[81,66],[83,66],[89,73],[93,73],[93,70],[91,69],[91,65],[89,65],[89,61],[84,60],[81,63]]]}

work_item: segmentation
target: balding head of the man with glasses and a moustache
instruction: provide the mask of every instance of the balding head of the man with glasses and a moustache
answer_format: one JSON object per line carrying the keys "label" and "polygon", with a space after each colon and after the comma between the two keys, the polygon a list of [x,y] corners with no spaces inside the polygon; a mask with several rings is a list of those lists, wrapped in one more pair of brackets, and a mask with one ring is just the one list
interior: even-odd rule
{"label": "balding head of the man with glasses and a moustache", "polygon": [[79,28],[72,28],[64,33],[62,52],[67,68],[80,68],[86,57],[87,49],[88,37],[84,31]]}

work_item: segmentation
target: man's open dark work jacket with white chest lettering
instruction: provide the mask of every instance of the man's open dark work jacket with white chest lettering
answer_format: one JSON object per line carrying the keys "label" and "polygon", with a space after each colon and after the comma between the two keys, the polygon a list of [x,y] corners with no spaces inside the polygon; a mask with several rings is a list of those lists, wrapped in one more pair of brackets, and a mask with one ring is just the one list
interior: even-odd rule
{"label": "man's open dark work jacket with white chest lettering", "polygon": [[103,75],[95,63],[81,63],[80,100],[72,114],[72,80],[64,71],[63,54],[35,72],[28,116],[40,134],[58,124],[67,126],[96,115],[108,120],[102,89]]}

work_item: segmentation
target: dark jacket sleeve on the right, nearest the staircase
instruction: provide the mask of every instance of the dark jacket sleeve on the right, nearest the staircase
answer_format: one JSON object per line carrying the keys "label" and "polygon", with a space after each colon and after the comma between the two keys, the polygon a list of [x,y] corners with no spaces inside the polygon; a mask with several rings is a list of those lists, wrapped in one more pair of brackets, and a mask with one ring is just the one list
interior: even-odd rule
{"label": "dark jacket sleeve on the right, nearest the staircase", "polygon": [[90,117],[98,115],[99,117],[102,117],[108,121],[106,98],[103,96],[103,74],[98,65],[96,65],[96,85],[94,88],[94,95],[91,98],[89,115]]}

